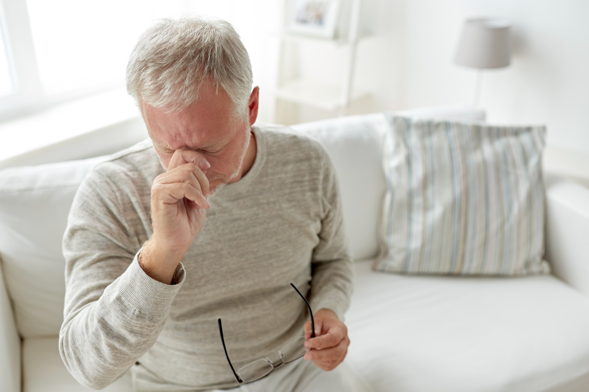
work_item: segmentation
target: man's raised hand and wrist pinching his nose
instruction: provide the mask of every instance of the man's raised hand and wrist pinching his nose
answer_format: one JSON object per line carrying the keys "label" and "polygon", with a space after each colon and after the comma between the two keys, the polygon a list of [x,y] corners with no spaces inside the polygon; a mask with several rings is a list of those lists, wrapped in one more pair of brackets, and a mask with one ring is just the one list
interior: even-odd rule
{"label": "man's raised hand and wrist pinching his nose", "polygon": [[178,149],[168,170],[151,186],[153,234],[141,252],[140,265],[150,277],[170,284],[174,271],[204,225],[210,164],[199,153]]}

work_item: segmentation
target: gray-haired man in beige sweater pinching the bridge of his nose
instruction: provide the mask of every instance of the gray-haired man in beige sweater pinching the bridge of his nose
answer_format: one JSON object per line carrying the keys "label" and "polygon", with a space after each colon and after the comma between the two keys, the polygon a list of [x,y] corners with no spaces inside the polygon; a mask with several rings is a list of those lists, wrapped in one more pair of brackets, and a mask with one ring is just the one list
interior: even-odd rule
{"label": "gray-haired man in beige sweater pinching the bridge of his nose", "polygon": [[224,21],[155,24],[127,90],[150,139],[92,170],[64,236],[70,373],[104,388],[131,368],[137,391],[349,391],[336,366],[352,261],[325,150],[252,126],[259,89]]}

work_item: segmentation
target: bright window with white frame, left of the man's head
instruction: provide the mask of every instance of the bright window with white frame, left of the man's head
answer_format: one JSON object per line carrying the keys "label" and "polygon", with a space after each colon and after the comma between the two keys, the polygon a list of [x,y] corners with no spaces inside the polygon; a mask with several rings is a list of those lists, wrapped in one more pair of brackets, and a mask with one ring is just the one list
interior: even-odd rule
{"label": "bright window with white frame, left of the man's head", "polygon": [[0,120],[124,86],[138,36],[183,0],[0,0]]}

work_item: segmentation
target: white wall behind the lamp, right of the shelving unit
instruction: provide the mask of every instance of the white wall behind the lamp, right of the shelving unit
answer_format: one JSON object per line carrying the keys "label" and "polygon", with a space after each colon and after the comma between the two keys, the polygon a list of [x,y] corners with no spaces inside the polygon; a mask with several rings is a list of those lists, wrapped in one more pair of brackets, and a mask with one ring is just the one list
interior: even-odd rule
{"label": "white wall behind the lamp, right of the shelving unit", "polygon": [[[545,123],[545,167],[589,184],[588,0],[363,0],[362,29],[373,38],[356,83],[373,94],[352,111],[472,103],[476,71],[454,64],[472,16],[513,24],[512,64],[483,76],[489,122]],[[301,113],[302,121],[326,116]]]}

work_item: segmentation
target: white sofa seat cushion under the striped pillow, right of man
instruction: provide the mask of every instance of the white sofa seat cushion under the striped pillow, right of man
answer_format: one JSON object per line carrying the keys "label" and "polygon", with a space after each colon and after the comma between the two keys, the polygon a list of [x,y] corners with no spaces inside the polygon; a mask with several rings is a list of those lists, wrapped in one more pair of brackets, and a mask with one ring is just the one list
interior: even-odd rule
{"label": "white sofa seat cushion under the striped pillow, right of man", "polygon": [[346,360],[375,392],[568,391],[589,375],[589,297],[556,277],[409,276],[370,264],[355,266]]}

